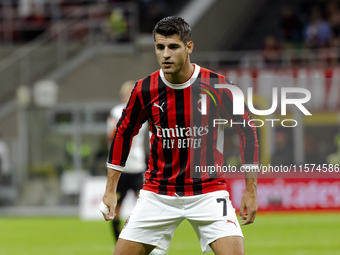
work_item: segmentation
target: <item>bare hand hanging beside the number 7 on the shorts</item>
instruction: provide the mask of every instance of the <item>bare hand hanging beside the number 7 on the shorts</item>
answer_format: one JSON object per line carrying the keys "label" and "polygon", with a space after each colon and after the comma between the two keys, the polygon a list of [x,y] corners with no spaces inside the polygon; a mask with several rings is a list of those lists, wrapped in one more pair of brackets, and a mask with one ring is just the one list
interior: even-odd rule
{"label": "bare hand hanging beside the number 7 on the shorts", "polygon": [[[241,222],[241,225],[253,223],[255,220],[257,209],[258,204],[256,189],[254,191],[246,191],[241,199],[240,220],[244,220],[243,222]],[[245,210],[247,212],[245,212]]]}

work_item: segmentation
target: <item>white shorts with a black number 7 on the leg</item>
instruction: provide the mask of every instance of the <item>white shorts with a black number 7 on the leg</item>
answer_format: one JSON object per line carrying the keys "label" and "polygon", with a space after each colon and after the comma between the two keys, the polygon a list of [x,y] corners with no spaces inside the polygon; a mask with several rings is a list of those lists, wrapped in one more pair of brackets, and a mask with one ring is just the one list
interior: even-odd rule
{"label": "white shorts with a black number 7 on the leg", "polygon": [[184,219],[194,228],[203,253],[210,252],[209,244],[218,238],[243,237],[227,191],[178,197],[141,190],[119,238],[167,250]]}

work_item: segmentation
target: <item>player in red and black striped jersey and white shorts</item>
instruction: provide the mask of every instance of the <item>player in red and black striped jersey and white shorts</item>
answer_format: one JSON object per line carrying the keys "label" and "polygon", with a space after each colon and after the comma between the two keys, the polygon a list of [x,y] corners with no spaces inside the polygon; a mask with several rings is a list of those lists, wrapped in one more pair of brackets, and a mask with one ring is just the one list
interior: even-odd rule
{"label": "player in red and black striped jersey and white shorts", "polygon": [[[114,255],[144,255],[155,247],[167,250],[184,219],[194,228],[204,253],[244,254],[242,231],[226,190],[227,179],[195,169],[223,164],[222,125],[213,125],[220,116],[238,123],[233,128],[240,137],[242,163],[256,167],[256,129],[253,124],[242,125],[252,123],[248,110],[243,115],[233,114],[230,91],[215,87],[230,81],[190,62],[194,46],[191,28],[182,18],[162,19],[153,35],[161,69],[136,82],[117,124],[107,163],[108,179],[100,209],[105,220],[112,220],[116,186],[131,139],[148,121],[152,135],[146,181]],[[255,174],[246,174],[245,182],[242,225],[252,223],[257,211]]]}

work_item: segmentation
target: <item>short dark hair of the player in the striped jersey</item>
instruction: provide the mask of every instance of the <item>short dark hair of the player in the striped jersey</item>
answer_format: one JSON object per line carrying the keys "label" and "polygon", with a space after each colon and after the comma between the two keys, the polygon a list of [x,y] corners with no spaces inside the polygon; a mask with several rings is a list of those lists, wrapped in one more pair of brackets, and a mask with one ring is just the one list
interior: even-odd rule
{"label": "short dark hair of the player in the striped jersey", "polygon": [[161,19],[153,29],[153,39],[155,35],[171,36],[178,34],[181,41],[187,43],[191,41],[191,28],[181,17],[169,16]]}

